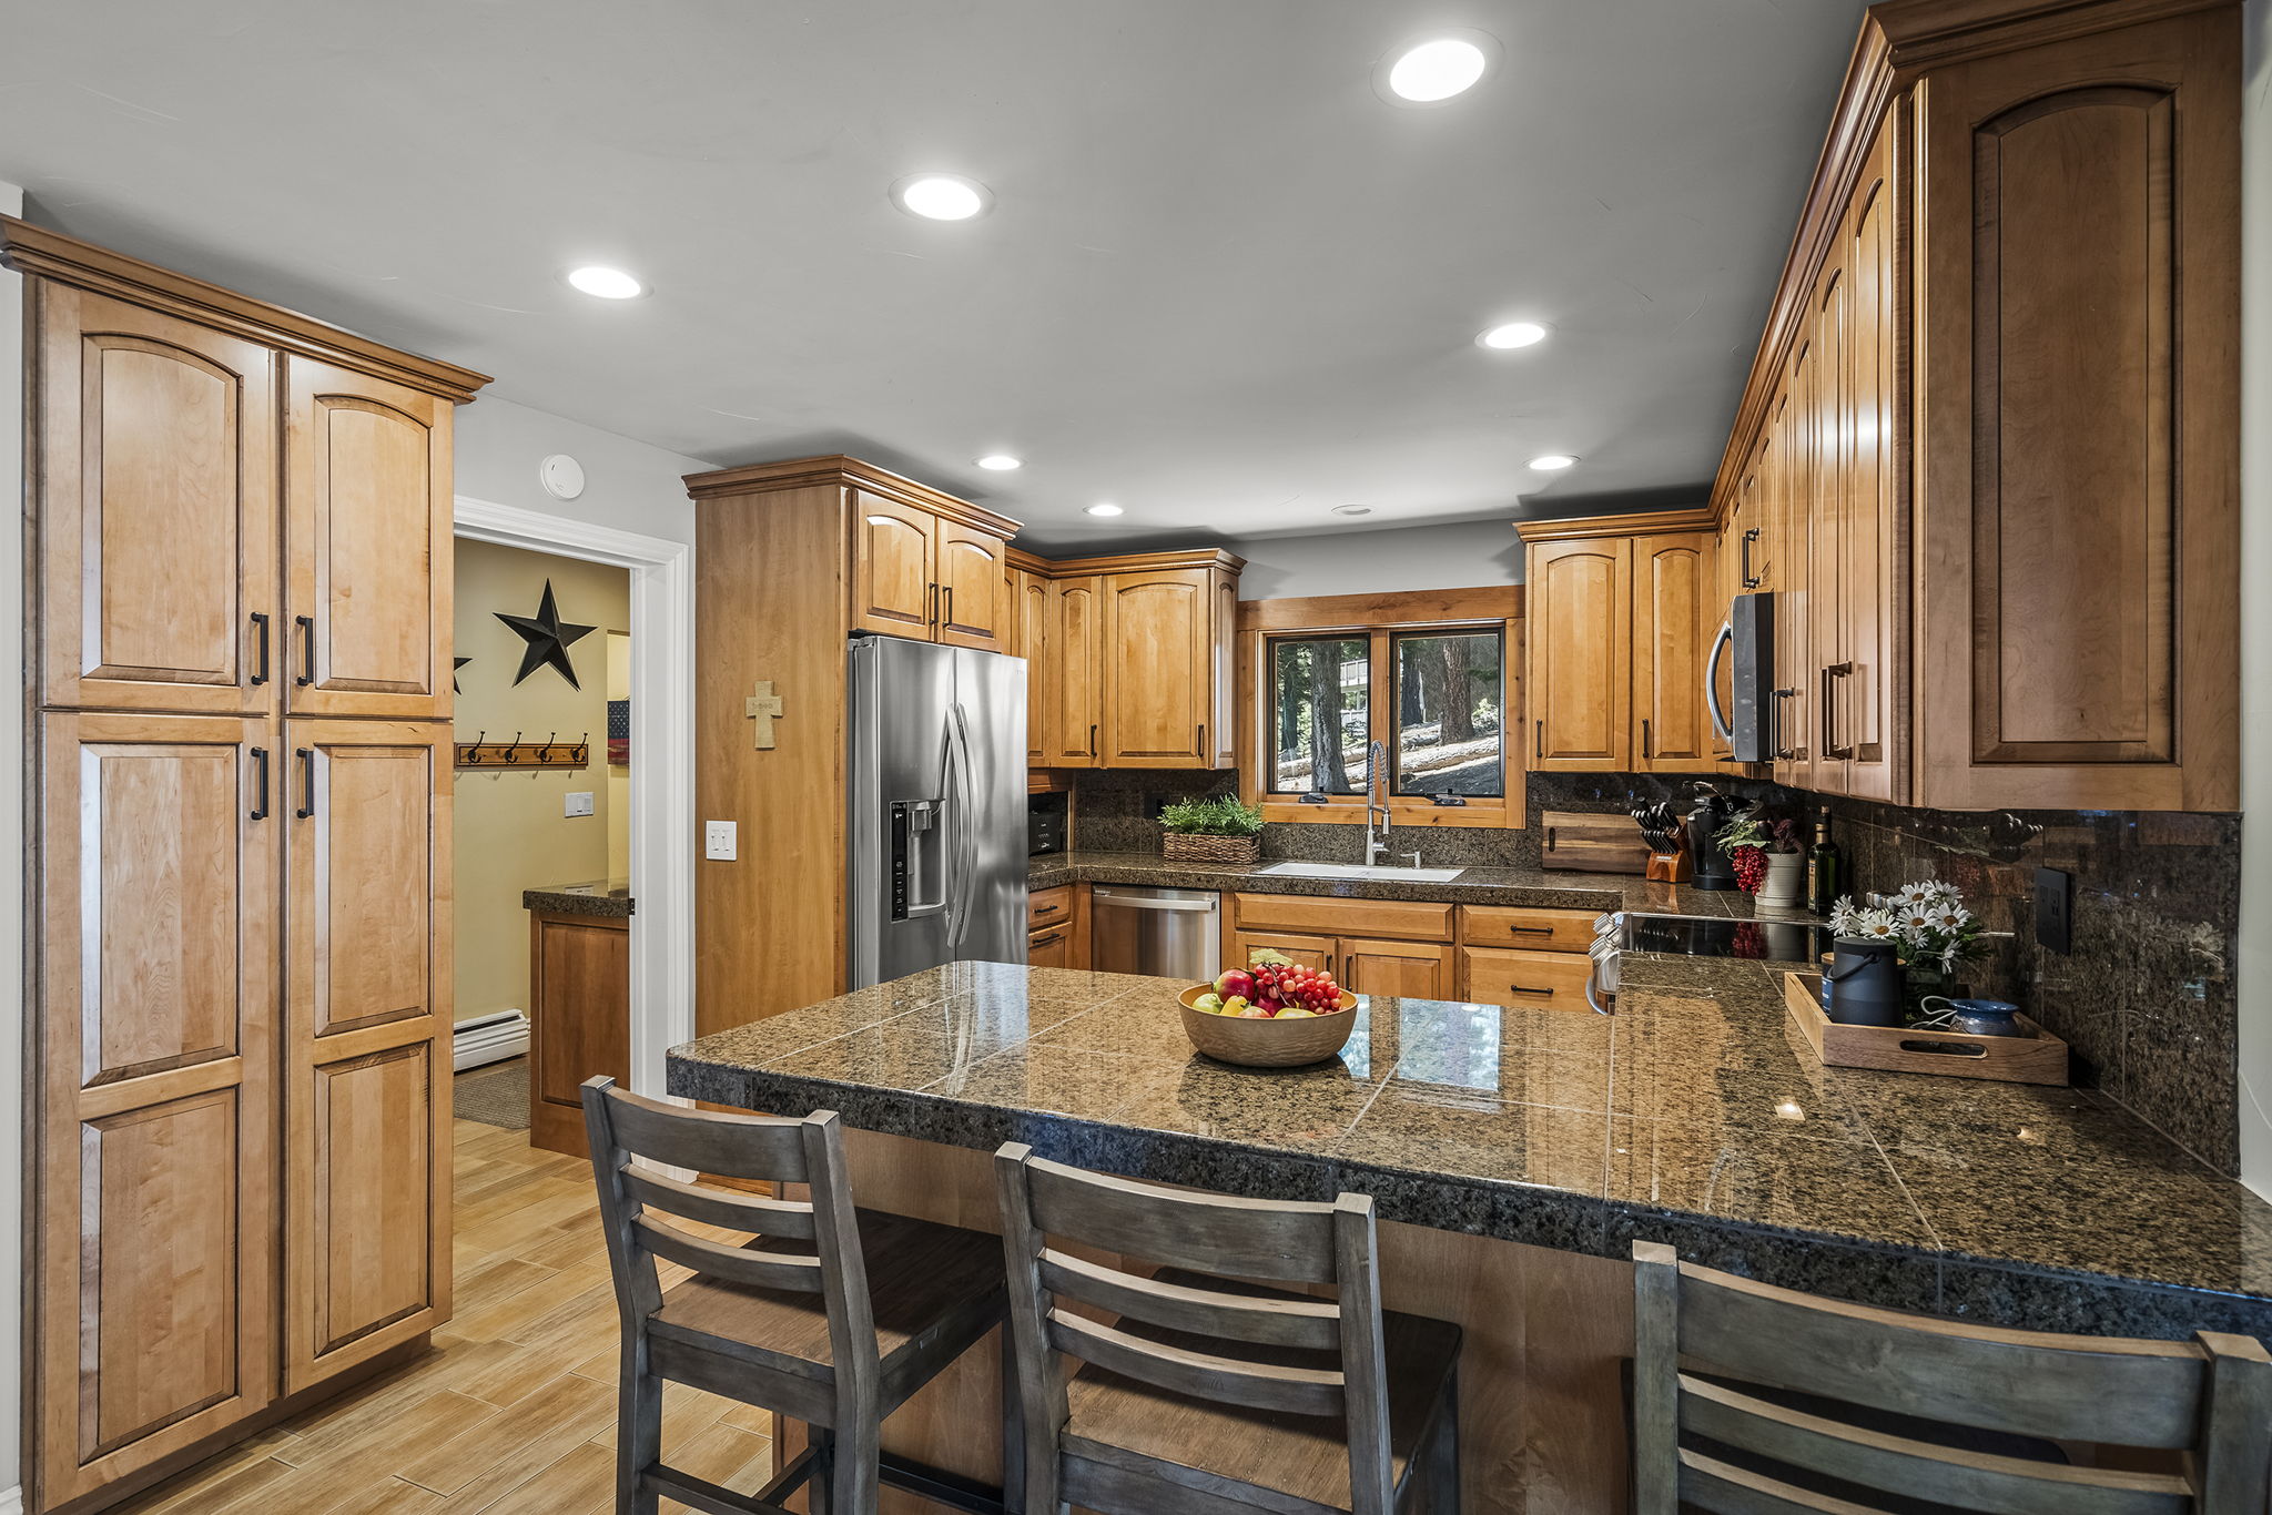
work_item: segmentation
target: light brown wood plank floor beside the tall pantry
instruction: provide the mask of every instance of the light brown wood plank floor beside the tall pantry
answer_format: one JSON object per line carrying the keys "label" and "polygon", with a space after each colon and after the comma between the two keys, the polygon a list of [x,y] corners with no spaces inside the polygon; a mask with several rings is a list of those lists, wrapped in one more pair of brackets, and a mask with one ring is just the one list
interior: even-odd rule
{"label": "light brown wood plank floor beside the tall pantry", "polygon": [[[686,1277],[666,1267],[663,1283]],[[457,1122],[457,1317],[434,1351],[118,1506],[123,1515],[602,1515],[616,1295],[591,1165]],[[741,1492],[772,1417],[673,1383],[663,1456]],[[682,1510],[670,1499],[666,1510]]]}

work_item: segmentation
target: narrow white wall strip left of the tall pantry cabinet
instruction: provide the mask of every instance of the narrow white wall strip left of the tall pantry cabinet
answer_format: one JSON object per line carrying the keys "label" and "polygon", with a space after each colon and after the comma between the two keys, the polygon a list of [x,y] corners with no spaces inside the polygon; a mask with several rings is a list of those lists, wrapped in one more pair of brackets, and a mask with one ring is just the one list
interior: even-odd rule
{"label": "narrow white wall strip left of the tall pantry cabinet", "polygon": [[[23,216],[23,191],[0,184],[0,211]],[[14,484],[18,529],[0,529],[0,661],[23,668],[23,275],[0,268],[0,482]],[[27,670],[30,672],[30,670]],[[23,700],[0,700],[0,752],[23,752]],[[23,763],[0,761],[0,856],[23,856]],[[0,884],[0,963],[23,963],[23,872]],[[23,984],[20,974],[11,974]],[[23,1131],[23,995],[16,1013],[0,1027],[0,1129]],[[0,1163],[0,1258],[23,1256],[18,1227],[23,1222],[23,1163]],[[18,1508],[16,1424],[23,1420],[23,1351],[18,1326],[20,1299],[0,1306],[0,1515]]]}

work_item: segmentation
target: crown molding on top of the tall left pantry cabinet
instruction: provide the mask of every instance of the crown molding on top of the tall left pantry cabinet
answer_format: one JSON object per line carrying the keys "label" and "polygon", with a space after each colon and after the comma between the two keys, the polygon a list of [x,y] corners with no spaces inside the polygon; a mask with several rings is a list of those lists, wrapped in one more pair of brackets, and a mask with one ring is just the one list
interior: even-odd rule
{"label": "crown molding on top of the tall left pantry cabinet", "polygon": [[95,243],[82,243],[77,236],[34,227],[14,216],[0,216],[0,263],[23,275],[73,284],[111,300],[218,327],[268,348],[404,384],[452,404],[466,404],[477,388],[488,384],[486,373],[416,357],[368,336],[341,332],[314,316],[286,311],[279,304],[143,263]]}

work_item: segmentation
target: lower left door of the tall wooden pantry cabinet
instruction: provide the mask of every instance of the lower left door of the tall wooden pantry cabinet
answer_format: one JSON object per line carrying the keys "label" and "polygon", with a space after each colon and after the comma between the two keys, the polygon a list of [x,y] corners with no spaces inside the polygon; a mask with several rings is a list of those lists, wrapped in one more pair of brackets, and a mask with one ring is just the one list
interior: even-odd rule
{"label": "lower left door of the tall wooden pantry cabinet", "polygon": [[277,727],[39,720],[41,1506],[227,1431],[277,1383]]}

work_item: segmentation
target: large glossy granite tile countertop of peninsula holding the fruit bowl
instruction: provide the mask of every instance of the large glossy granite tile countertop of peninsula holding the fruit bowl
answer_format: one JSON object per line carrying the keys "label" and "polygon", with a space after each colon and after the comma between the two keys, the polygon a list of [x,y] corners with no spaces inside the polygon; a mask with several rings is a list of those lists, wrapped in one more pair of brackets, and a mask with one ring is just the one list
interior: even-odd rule
{"label": "large glossy granite tile countertop of peninsula holding the fruit bowl", "polygon": [[[1511,886],[1520,888],[1520,886]],[[954,963],[675,1047],[675,1095],[2031,1329],[2272,1338],[2272,1204],[2086,1090],[1822,1068],[1756,963],[1618,1015],[1363,1002],[1338,1061],[1195,1054],[1177,984]]]}

